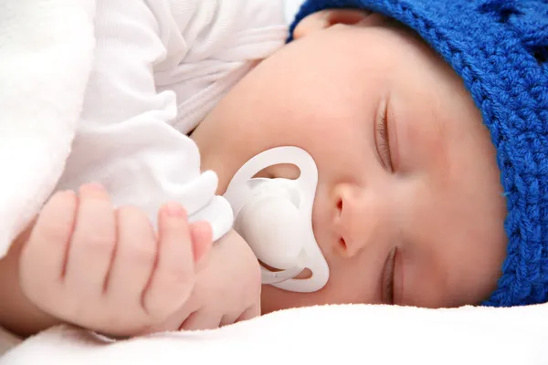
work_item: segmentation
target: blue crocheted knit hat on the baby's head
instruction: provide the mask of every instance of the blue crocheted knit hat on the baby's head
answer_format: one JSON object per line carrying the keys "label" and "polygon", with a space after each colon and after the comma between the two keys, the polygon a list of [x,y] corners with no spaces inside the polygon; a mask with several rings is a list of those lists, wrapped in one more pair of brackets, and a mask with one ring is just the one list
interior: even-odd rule
{"label": "blue crocheted knit hat on the baby's head", "polygon": [[486,306],[548,302],[548,1],[307,0],[414,29],[463,78],[497,149],[508,214],[502,276]]}

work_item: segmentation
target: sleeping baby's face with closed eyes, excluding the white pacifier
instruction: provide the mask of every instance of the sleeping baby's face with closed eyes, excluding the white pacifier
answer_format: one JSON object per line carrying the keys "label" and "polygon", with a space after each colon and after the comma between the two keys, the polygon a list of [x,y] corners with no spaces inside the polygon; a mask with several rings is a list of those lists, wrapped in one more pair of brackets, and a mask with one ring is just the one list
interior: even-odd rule
{"label": "sleeping baby's face with closed eyes, excluding the white pacifier", "polygon": [[312,224],[330,280],[311,294],[263,287],[263,311],[489,297],[505,256],[505,202],[489,132],[461,80],[381,16],[319,13],[296,35],[193,135],[218,193],[273,147],[298,146],[318,165]]}

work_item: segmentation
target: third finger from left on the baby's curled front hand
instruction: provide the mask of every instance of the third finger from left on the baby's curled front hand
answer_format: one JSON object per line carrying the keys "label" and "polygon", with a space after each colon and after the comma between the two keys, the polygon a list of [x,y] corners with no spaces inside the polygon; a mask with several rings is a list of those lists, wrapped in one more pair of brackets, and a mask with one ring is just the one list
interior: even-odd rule
{"label": "third finger from left on the baby's curled front hand", "polygon": [[[122,313],[124,318],[144,318],[142,292],[151,277],[157,256],[153,226],[146,214],[130,206],[120,208],[116,219],[118,243],[106,284],[107,303],[112,308],[125,308]],[[136,323],[127,325],[134,326]]]}

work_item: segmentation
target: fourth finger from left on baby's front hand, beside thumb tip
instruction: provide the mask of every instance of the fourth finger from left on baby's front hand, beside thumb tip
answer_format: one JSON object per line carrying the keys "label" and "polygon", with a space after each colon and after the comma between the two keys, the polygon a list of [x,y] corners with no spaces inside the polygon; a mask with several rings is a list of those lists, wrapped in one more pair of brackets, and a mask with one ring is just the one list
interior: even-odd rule
{"label": "fourth finger from left on baby's front hand, beside thumb tip", "polygon": [[181,205],[171,203],[161,209],[158,231],[158,258],[142,305],[153,318],[163,319],[190,297],[195,285],[195,262]]}

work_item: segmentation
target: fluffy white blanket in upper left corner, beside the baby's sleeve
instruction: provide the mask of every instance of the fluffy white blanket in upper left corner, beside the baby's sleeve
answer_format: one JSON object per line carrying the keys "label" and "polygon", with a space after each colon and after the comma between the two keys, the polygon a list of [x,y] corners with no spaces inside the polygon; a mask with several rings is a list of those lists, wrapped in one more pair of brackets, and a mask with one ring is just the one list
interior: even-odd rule
{"label": "fluffy white blanket in upper left corner, beside the baby's sleeve", "polygon": [[0,1],[0,257],[58,183],[93,59],[93,0]]}

